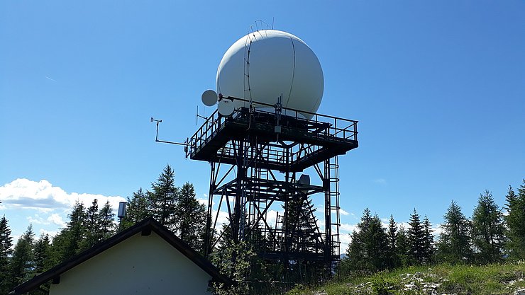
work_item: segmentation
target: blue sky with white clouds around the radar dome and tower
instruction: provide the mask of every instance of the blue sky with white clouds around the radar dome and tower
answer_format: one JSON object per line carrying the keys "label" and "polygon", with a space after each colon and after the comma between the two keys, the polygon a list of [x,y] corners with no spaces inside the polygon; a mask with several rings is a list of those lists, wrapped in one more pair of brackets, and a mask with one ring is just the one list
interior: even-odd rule
{"label": "blue sky with white clouds around the radar dome and tower", "polygon": [[[262,20],[319,57],[319,112],[359,120],[341,156],[348,231],[370,207],[442,222],[451,200],[502,205],[525,178],[524,1],[1,1],[0,214],[55,232],[76,199],[118,202],[167,163],[204,198],[180,146],[224,52]],[[206,114],[211,112],[206,110]],[[9,199],[6,201],[6,199]]]}

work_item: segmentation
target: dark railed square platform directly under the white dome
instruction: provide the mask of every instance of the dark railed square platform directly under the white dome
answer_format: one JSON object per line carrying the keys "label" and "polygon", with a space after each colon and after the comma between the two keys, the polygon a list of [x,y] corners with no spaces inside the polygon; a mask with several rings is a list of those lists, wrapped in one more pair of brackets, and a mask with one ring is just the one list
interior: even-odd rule
{"label": "dark railed square platform directly under the white dome", "polygon": [[358,147],[358,121],[318,114],[308,120],[299,110],[282,110],[287,115],[277,108],[275,112],[239,108],[228,117],[215,111],[187,139],[186,156],[235,165],[241,158],[239,146],[248,143],[250,149],[243,156],[257,159],[248,167],[300,172]]}

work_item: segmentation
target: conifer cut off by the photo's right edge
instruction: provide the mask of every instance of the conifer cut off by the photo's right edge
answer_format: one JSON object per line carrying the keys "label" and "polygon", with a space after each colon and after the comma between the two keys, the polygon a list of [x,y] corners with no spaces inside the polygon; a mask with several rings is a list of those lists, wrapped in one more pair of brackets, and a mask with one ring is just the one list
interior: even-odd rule
{"label": "conifer cut off by the photo's right edge", "polygon": [[507,221],[509,255],[514,259],[525,258],[525,180],[518,189],[518,195],[509,187],[507,199]]}

